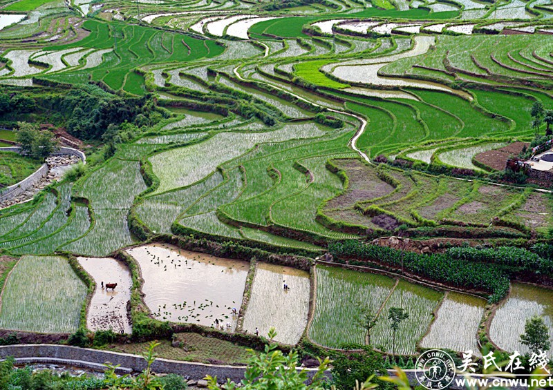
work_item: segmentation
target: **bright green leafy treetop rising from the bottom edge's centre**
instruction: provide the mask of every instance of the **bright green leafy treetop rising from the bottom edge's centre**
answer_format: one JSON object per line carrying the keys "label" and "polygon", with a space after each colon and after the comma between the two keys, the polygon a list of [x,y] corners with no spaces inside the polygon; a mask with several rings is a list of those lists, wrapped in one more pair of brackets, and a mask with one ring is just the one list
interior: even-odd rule
{"label": "bright green leafy treetop rising from the bottom edge's centre", "polygon": [[[277,333],[274,329],[269,331],[269,338],[272,340]],[[253,353],[253,351],[252,351]],[[330,359],[319,360],[319,369],[315,376],[307,384],[308,376],[305,370],[298,371],[297,351],[291,351],[285,355],[279,351],[277,344],[265,345],[265,350],[257,355],[253,353],[242,380],[240,389],[244,390],[265,390],[265,389],[294,389],[294,390],[323,390],[325,379],[324,371],[330,365]],[[227,383],[220,387],[217,384],[217,377],[207,376],[209,390],[236,390],[238,384],[227,380]]]}

